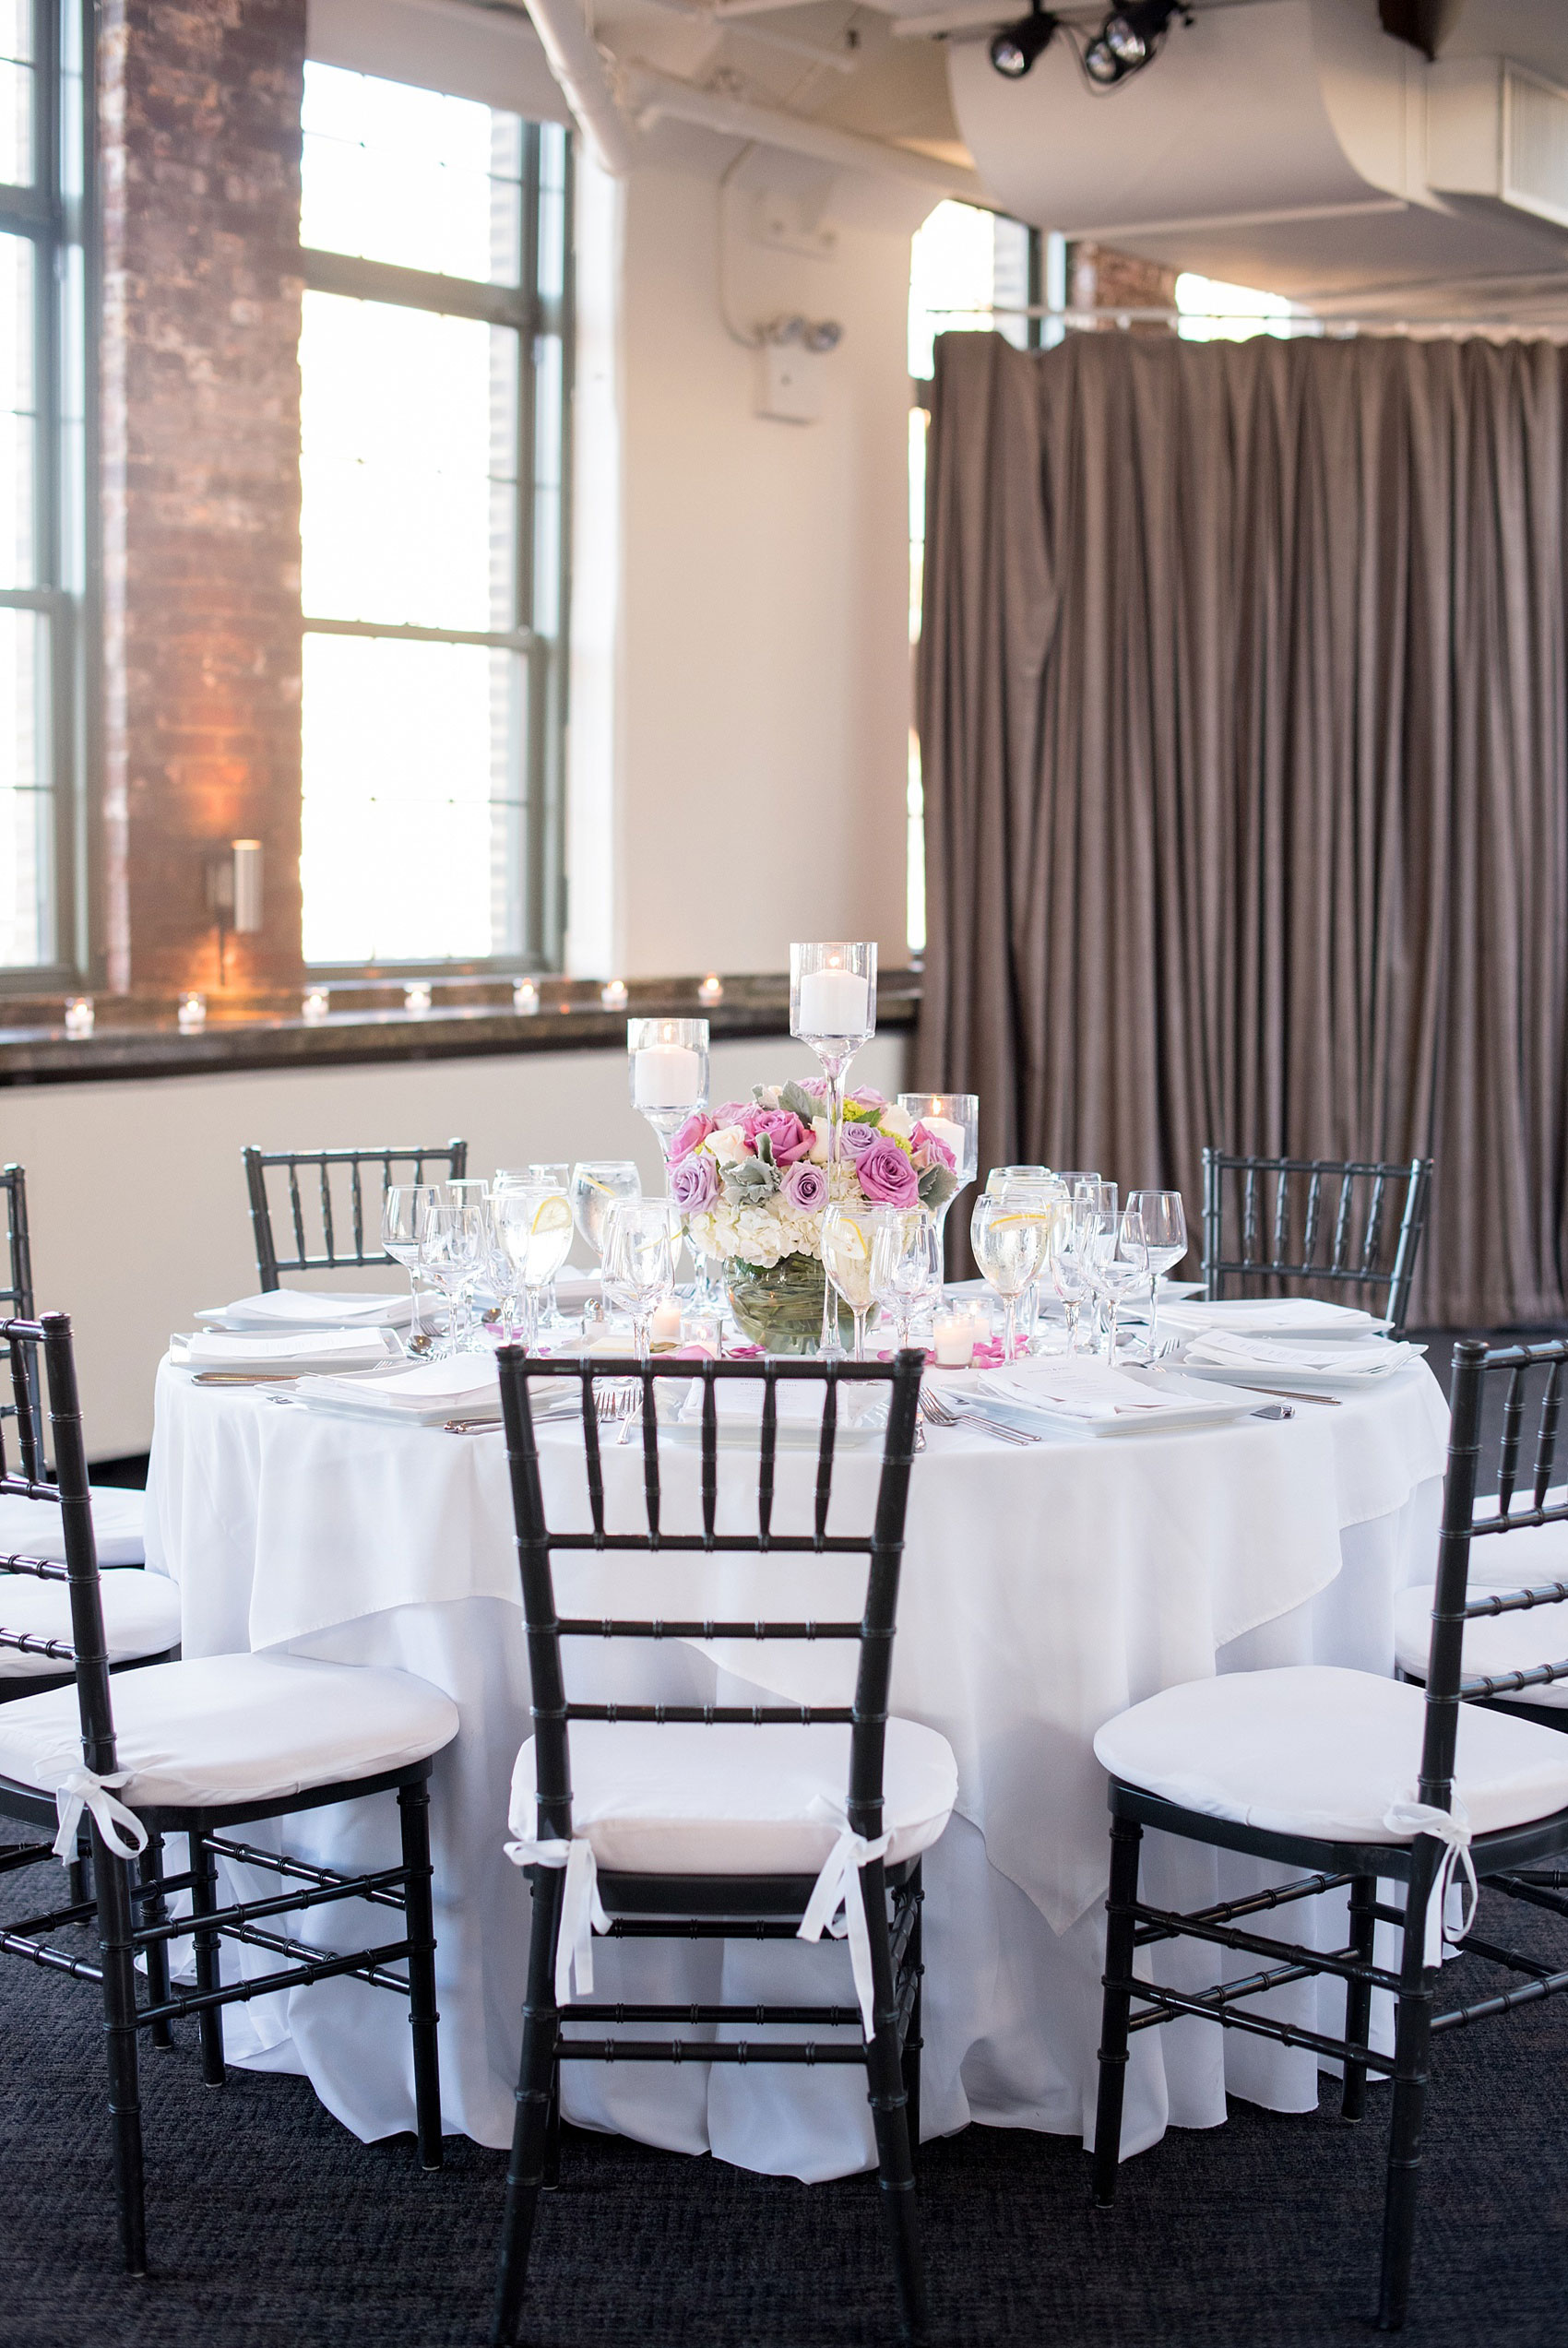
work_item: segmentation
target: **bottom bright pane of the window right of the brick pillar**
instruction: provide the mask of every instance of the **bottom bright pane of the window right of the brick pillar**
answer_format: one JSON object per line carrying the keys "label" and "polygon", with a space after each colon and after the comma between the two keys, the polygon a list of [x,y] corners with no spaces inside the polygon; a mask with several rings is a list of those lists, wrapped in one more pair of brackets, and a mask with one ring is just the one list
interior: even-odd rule
{"label": "bottom bright pane of the window right of the brick pillar", "polygon": [[305,636],[307,963],[516,949],[523,695],[516,653]]}

